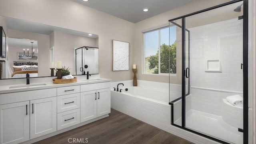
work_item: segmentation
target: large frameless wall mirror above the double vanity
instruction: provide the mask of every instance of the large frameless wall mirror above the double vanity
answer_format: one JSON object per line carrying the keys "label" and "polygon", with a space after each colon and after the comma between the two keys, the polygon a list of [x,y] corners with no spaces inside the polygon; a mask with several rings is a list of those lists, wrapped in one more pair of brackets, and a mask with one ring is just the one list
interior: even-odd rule
{"label": "large frameless wall mirror above the double vanity", "polygon": [[[34,77],[43,77],[50,76],[50,64],[52,62],[56,66],[57,61],[62,61],[62,66],[71,68],[70,74],[80,75],[82,72],[76,73],[75,48],[83,46],[98,48],[98,35],[96,34],[89,35],[86,32],[0,17],[2,17],[0,20],[4,20],[7,25],[6,43],[9,46],[6,60],[8,60],[12,70],[12,73],[8,74],[9,76],[3,76],[1,79],[16,78],[13,77],[15,63],[20,66],[36,67],[34,69],[37,69],[37,75]],[[25,42],[26,45],[21,44],[22,42]],[[90,74],[98,74],[98,52],[94,52],[94,50],[91,52],[90,50],[86,57],[86,61],[94,61],[94,65],[90,64],[90,68],[93,69],[87,70],[90,70]],[[17,78],[23,78],[23,76]]]}

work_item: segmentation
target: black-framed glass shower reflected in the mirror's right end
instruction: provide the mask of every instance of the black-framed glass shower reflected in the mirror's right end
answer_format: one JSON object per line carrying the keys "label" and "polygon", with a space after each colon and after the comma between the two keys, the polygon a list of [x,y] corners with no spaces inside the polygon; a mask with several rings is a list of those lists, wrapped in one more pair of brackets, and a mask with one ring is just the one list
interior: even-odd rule
{"label": "black-framed glass shower reflected in the mirror's right end", "polygon": [[75,74],[84,75],[87,72],[89,74],[99,73],[99,56],[98,48],[83,46],[81,48],[75,48]]}

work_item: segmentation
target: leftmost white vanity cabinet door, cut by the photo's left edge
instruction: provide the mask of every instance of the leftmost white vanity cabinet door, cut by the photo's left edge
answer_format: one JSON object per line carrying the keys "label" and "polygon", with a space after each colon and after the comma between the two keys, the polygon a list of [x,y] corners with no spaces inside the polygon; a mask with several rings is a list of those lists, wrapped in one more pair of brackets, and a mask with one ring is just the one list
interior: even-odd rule
{"label": "leftmost white vanity cabinet door, cut by the photo's left edge", "polygon": [[0,105],[0,143],[29,140],[29,101]]}

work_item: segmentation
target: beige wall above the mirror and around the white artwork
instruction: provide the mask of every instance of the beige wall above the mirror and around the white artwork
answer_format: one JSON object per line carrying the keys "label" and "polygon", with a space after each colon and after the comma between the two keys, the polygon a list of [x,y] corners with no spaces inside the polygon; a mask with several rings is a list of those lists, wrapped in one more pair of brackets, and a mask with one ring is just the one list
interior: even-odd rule
{"label": "beige wall above the mirror and around the white artwork", "polygon": [[[0,15],[98,34],[100,76],[113,81],[133,77],[134,24],[131,22],[71,0],[1,0]],[[129,71],[112,71],[112,40],[130,42]]]}

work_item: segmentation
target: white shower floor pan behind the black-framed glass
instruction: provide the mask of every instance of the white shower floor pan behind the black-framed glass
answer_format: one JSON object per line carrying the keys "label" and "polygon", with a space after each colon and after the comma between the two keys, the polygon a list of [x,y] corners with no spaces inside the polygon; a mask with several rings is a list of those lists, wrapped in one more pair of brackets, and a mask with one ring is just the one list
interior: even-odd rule
{"label": "white shower floor pan behind the black-framed glass", "polygon": [[[181,126],[181,118],[174,124]],[[212,136],[228,143],[242,144],[243,133],[224,122],[221,116],[189,110],[186,112],[186,128]]]}

